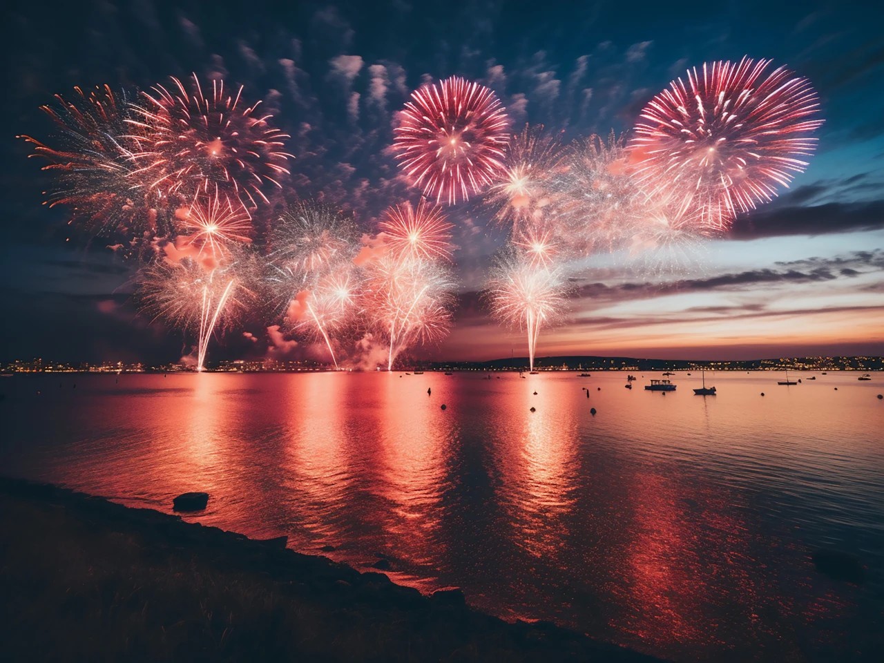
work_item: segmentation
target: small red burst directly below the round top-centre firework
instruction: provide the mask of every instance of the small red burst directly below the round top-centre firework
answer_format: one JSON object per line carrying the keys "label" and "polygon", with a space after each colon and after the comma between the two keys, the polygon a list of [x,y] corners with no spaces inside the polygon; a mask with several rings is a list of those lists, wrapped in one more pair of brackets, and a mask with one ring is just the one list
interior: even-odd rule
{"label": "small red burst directly below the round top-centre firework", "polygon": [[453,224],[447,222],[440,207],[423,198],[416,208],[410,202],[388,208],[380,227],[397,254],[427,260],[451,259],[451,233],[448,231]]}

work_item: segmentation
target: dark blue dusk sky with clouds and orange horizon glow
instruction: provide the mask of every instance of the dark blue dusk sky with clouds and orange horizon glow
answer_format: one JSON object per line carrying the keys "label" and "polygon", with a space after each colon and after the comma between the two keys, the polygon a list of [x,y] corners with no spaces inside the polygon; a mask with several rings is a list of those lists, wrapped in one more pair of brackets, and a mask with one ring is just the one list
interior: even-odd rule
{"label": "dark blue dusk sky with clouds and orange horizon glow", "polygon": [[[636,271],[620,255],[586,261],[568,324],[542,333],[537,354],[884,354],[879,3],[176,5],[4,10],[0,361],[170,362],[188,350],[181,332],[137,314],[132,265],[107,242],[69,232],[64,209],[42,206],[50,180],[15,136],[50,139],[38,107],[53,94],[103,83],[135,94],[190,72],[242,84],[292,135],[286,187],[354,210],[374,232],[387,204],[416,197],[389,148],[394,114],[427,80],[479,80],[514,126],[542,123],[570,139],[627,131],[687,67],[743,55],[789,65],[819,92],[826,124],[807,171],[775,202],[739,217],[677,282]],[[450,218],[459,247],[455,326],[440,347],[419,354],[524,355],[522,335],[499,328],[476,295],[504,233],[476,204]],[[274,352],[265,328],[276,323],[248,321],[210,347],[210,361]],[[309,352],[300,346],[292,355]]]}

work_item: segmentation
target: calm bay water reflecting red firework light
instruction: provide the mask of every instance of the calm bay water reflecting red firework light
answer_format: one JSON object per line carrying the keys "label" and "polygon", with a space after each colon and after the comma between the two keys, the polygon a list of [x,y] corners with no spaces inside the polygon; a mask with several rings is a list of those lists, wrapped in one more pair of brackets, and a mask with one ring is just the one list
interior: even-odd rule
{"label": "calm bay water reflecting red firework light", "polygon": [[[666,658],[874,659],[884,375],[858,375],[707,373],[706,398],[683,372],[665,395],[659,373],[17,375],[0,472],[163,511],[207,491],[188,520]],[[819,575],[820,547],[866,582]]]}

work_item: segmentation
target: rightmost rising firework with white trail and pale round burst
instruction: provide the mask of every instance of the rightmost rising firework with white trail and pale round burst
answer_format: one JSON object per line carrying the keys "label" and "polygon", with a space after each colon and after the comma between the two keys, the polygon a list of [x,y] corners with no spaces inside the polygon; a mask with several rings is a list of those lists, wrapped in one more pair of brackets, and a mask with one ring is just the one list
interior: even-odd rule
{"label": "rightmost rising firework with white trail and pale round burst", "polygon": [[532,371],[540,330],[560,321],[568,305],[567,292],[558,268],[532,265],[516,253],[504,256],[492,271],[485,301],[501,323],[526,332]]}

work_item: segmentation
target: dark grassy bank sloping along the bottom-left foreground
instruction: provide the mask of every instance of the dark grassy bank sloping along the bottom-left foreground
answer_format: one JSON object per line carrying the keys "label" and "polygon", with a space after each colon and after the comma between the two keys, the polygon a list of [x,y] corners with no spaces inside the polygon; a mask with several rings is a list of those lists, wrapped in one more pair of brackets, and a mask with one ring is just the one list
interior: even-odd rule
{"label": "dark grassy bank sloping along the bottom-left foreground", "polygon": [[3,658],[655,660],[284,546],[0,478]]}

